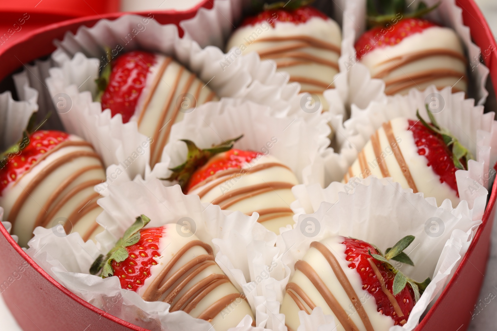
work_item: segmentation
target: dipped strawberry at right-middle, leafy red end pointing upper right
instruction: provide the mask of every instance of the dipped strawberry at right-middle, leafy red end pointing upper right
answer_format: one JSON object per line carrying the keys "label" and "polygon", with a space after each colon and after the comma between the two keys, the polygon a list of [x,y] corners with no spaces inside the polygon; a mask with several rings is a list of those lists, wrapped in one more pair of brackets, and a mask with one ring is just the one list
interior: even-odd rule
{"label": "dipped strawberry at right-middle, leafy red end pointing upper right", "polygon": [[438,125],[428,109],[427,113],[431,123],[424,121],[419,113],[418,121],[397,118],[383,123],[357,155],[344,182],[354,176],[392,177],[403,188],[436,198],[438,204],[450,199],[457,205],[455,173],[467,169],[472,155]]}

